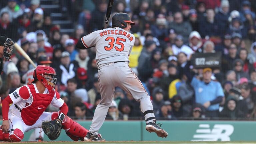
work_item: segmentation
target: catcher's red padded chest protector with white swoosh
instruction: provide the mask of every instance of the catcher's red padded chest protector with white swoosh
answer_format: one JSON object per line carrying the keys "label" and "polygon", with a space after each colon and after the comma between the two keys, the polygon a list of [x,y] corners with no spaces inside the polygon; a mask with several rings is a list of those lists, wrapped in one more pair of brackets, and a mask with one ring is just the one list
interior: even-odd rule
{"label": "catcher's red padded chest protector with white swoosh", "polygon": [[49,90],[49,94],[39,94],[36,93],[35,87],[30,84],[29,93],[32,95],[33,100],[30,106],[25,107],[21,110],[21,118],[26,125],[33,125],[36,123],[38,118],[46,110],[46,108],[52,102],[52,99],[55,95],[55,90]]}

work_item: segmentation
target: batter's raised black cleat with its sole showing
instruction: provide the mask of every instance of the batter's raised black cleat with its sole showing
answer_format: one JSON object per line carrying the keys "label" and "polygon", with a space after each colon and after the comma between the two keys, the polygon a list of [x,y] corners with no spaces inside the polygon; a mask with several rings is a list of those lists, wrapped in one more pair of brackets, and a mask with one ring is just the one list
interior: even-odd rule
{"label": "batter's raised black cleat with its sole showing", "polygon": [[148,132],[155,132],[157,134],[157,136],[159,137],[167,137],[168,136],[168,133],[161,129],[160,128],[161,124],[156,124],[156,123],[153,123],[153,122],[149,122],[147,125],[146,125],[146,130]]}

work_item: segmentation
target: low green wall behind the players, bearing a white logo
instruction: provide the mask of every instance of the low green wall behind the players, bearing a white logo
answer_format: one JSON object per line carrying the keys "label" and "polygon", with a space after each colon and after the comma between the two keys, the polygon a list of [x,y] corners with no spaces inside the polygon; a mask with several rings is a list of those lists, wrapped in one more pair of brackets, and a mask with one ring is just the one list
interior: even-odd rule
{"label": "low green wall behind the players, bearing a white logo", "polygon": [[[91,121],[77,121],[89,129]],[[158,121],[168,132],[159,138],[145,130],[145,121],[105,121],[99,133],[108,141],[256,141],[256,121]],[[1,122],[2,123],[2,122]],[[33,130],[26,132],[28,141]],[[45,135],[45,141],[50,141]],[[72,141],[62,130],[56,141]]]}

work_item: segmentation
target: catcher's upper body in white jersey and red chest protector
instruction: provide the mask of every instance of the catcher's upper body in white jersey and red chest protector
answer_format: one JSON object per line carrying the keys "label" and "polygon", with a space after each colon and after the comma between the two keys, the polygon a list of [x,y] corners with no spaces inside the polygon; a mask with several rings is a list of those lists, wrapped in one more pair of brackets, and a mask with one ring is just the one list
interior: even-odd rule
{"label": "catcher's upper body in white jersey and red chest protector", "polygon": [[64,103],[57,91],[45,89],[40,94],[35,84],[16,89],[10,98],[21,109],[21,118],[26,125],[33,125],[50,104],[59,108]]}

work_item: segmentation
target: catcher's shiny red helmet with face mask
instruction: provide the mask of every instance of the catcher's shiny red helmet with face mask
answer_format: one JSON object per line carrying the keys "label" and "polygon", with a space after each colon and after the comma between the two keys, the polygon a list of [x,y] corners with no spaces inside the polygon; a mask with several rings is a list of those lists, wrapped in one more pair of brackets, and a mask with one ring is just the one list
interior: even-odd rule
{"label": "catcher's shiny red helmet with face mask", "polygon": [[56,76],[55,70],[44,65],[38,65],[33,74],[34,81],[40,81],[47,89],[54,89],[57,81],[57,78],[54,78],[54,76]]}

